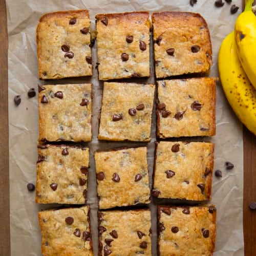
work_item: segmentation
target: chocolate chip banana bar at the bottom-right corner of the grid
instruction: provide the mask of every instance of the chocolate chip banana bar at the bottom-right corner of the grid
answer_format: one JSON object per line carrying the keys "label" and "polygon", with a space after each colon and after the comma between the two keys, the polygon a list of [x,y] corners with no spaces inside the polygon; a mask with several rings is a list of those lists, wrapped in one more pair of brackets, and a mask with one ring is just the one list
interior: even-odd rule
{"label": "chocolate chip banana bar at the bottom-right corner of the grid", "polygon": [[158,206],[158,255],[212,255],[216,212],[214,205]]}

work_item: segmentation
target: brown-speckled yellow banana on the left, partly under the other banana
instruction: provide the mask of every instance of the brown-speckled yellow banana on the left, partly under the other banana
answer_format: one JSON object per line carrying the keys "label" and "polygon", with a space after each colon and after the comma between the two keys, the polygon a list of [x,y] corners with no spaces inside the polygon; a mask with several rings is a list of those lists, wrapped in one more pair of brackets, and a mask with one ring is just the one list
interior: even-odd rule
{"label": "brown-speckled yellow banana on the left, partly under the other banana", "polygon": [[256,90],[241,66],[234,32],[227,35],[221,44],[218,66],[222,87],[231,108],[256,135]]}

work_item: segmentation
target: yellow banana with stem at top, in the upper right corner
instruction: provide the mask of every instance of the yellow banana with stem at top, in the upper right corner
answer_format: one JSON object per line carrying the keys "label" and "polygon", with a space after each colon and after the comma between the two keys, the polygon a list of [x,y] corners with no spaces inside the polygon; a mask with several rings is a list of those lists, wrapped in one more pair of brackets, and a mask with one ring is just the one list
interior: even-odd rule
{"label": "yellow banana with stem at top, in the upper right corner", "polygon": [[245,1],[245,10],[238,16],[234,25],[234,35],[240,62],[256,88],[256,16],[252,12],[252,3],[253,0]]}

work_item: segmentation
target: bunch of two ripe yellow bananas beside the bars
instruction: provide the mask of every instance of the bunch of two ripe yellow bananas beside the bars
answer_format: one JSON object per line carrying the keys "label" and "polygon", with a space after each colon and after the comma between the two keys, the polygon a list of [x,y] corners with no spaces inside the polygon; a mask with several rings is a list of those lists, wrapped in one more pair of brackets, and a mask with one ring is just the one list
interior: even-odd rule
{"label": "bunch of two ripe yellow bananas beside the bars", "polygon": [[245,1],[245,11],[237,18],[234,31],[223,40],[218,66],[231,108],[256,135],[256,16],[252,3]]}

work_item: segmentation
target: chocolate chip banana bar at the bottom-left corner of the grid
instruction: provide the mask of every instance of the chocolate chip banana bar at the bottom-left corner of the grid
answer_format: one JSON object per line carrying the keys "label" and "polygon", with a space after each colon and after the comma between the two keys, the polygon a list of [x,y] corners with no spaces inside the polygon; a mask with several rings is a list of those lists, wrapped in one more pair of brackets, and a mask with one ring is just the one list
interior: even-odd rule
{"label": "chocolate chip banana bar at the bottom-left corner of the grid", "polygon": [[42,255],[93,256],[89,206],[40,211],[38,219]]}

